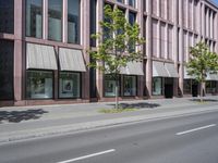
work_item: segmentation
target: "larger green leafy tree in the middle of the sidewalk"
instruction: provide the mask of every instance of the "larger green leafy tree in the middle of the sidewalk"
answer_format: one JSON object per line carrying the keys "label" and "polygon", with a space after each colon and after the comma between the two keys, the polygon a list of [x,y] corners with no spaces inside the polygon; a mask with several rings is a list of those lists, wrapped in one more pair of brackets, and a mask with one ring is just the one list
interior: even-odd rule
{"label": "larger green leafy tree in the middle of the sidewalk", "polygon": [[89,66],[110,74],[116,80],[116,109],[118,109],[119,74],[128,62],[143,60],[143,53],[137,47],[144,43],[144,38],[140,37],[138,24],[130,24],[121,10],[113,10],[108,4],[104,8],[104,21],[99,22],[99,25],[102,33],[92,36],[98,41],[97,50],[88,51],[96,62],[89,63]]}

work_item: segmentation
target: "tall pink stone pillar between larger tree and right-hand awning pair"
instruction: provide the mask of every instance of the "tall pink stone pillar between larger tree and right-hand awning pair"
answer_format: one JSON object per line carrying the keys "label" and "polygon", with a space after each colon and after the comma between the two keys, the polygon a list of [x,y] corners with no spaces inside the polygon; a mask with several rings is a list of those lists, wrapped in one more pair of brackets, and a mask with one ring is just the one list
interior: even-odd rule
{"label": "tall pink stone pillar between larger tree and right-hand awning pair", "polygon": [[153,80],[153,60],[152,60],[152,52],[153,52],[153,30],[152,30],[152,0],[147,0],[147,22],[146,22],[146,54],[147,54],[147,62],[146,62],[146,95],[147,97],[152,97],[152,80]]}

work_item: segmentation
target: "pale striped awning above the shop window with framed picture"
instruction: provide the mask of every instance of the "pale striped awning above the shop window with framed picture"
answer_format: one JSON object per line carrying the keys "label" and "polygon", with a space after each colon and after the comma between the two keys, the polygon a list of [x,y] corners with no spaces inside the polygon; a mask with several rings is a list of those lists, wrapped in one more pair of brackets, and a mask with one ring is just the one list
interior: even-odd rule
{"label": "pale striped awning above the shop window with framed picture", "polygon": [[86,72],[81,50],[60,48],[59,61],[61,71]]}

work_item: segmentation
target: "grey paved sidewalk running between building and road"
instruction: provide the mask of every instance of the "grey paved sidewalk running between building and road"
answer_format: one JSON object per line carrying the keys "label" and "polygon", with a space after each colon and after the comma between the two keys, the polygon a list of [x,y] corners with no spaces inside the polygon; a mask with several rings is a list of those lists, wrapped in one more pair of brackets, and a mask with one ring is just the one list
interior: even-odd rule
{"label": "grey paved sidewalk running between building and road", "polygon": [[122,101],[138,111],[119,114],[99,113],[112,109],[112,102],[0,108],[0,142],[218,110],[218,97],[206,99],[205,103],[191,98]]}

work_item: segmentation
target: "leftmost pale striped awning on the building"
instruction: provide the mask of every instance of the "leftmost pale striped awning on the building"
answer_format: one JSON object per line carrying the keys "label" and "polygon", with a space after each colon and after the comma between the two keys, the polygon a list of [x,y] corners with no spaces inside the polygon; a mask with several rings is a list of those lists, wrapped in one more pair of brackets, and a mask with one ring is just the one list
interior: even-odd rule
{"label": "leftmost pale striped awning on the building", "polygon": [[58,70],[53,47],[26,43],[26,68]]}

